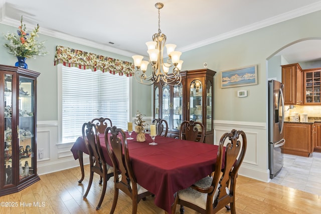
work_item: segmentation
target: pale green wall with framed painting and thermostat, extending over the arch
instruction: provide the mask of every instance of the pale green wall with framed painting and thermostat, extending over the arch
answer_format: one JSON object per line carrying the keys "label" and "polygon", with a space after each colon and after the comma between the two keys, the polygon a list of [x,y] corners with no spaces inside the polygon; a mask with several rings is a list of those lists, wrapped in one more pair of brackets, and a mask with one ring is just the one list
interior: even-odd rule
{"label": "pale green wall with framed painting and thermostat, extending over the arch", "polygon": [[[214,77],[214,119],[266,122],[267,59],[280,48],[304,38],[321,38],[321,12],[298,17],[253,32],[184,52],[184,70],[208,68]],[[258,65],[258,85],[221,89],[221,72]],[[281,72],[281,70],[279,70]],[[248,96],[237,97],[238,90]]]}

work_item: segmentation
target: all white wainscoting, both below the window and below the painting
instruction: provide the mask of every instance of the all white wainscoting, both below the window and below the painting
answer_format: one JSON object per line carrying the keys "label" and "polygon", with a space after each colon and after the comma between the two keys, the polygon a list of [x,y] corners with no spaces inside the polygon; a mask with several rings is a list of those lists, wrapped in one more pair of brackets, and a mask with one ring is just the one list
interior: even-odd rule
{"label": "all white wainscoting, both below the window and below the painting", "polygon": [[[57,121],[38,121],[37,127],[37,148],[44,149],[44,158],[39,159],[38,154],[38,174],[79,166],[70,151],[73,144],[58,144]],[[239,174],[269,182],[266,124],[214,120],[214,143],[218,144],[221,136],[232,129],[243,130],[247,137],[247,151]],[[88,163],[88,155],[84,154],[84,164]]]}

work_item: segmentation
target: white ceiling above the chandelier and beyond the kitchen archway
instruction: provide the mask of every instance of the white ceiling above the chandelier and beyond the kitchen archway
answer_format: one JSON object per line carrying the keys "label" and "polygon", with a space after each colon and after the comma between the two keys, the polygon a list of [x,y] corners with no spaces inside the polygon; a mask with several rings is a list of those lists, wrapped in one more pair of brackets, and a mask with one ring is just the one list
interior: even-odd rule
{"label": "white ceiling above the chandelier and beyond the kitchen archway", "polygon": [[[145,42],[158,31],[156,2],[0,0],[0,23],[19,26],[23,16],[27,29],[39,24],[45,35],[125,56],[147,56]],[[162,33],[182,52],[321,10],[317,0],[161,2]],[[289,63],[321,59],[320,47],[320,41],[304,41],[279,54]]]}

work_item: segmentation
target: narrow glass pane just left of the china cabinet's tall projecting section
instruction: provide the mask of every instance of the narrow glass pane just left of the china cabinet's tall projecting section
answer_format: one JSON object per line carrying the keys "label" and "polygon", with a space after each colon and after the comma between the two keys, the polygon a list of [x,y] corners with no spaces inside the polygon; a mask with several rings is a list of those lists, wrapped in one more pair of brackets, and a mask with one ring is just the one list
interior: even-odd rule
{"label": "narrow glass pane just left of the china cabinet's tall projecting section", "polygon": [[183,117],[183,85],[175,85],[173,88],[173,127],[172,129],[180,129]]}

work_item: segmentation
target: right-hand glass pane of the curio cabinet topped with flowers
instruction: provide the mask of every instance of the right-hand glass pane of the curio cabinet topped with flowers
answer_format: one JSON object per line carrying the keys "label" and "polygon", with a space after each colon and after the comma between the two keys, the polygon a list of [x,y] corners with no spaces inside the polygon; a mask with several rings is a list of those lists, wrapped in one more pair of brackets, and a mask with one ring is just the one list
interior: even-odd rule
{"label": "right-hand glass pane of the curio cabinet topped with flowers", "polygon": [[35,152],[35,80],[19,77],[19,178],[20,180],[33,174]]}

